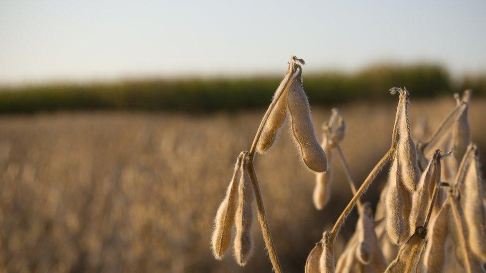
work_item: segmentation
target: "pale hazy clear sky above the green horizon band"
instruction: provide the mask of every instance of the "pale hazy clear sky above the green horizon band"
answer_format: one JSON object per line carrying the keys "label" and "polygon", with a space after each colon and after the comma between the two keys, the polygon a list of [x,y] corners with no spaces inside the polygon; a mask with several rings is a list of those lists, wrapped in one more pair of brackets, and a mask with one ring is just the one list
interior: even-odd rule
{"label": "pale hazy clear sky above the green horizon band", "polygon": [[486,71],[486,1],[0,0],[0,83],[354,70]]}

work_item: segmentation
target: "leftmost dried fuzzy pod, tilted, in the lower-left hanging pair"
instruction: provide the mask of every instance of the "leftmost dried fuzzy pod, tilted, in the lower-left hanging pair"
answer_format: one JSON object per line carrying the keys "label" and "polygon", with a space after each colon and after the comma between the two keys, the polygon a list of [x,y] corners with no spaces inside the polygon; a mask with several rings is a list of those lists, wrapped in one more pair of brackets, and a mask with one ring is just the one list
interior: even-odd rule
{"label": "leftmost dried fuzzy pod, tilted, in the lower-left hanging pair", "polygon": [[226,190],[226,196],[221,202],[216,218],[214,219],[215,227],[211,237],[211,246],[213,255],[216,259],[221,260],[231,242],[231,228],[235,220],[236,212],[236,192],[238,188],[238,171],[241,169],[243,153],[237,159],[235,169],[233,171],[233,178]]}

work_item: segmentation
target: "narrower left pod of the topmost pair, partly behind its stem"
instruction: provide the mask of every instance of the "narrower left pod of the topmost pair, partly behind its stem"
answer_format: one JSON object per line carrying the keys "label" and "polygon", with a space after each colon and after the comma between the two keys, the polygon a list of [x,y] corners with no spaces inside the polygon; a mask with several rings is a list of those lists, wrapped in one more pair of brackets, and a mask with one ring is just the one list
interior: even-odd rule
{"label": "narrower left pod of the topmost pair, partly behind its stem", "polygon": [[[282,125],[287,120],[287,94],[291,84],[292,71],[294,68],[293,58],[289,62],[287,73],[278,86],[272,100],[278,99],[273,110],[269,113],[268,119],[258,140],[257,151],[259,154],[266,153],[280,134]],[[281,94],[280,94],[281,93]]]}

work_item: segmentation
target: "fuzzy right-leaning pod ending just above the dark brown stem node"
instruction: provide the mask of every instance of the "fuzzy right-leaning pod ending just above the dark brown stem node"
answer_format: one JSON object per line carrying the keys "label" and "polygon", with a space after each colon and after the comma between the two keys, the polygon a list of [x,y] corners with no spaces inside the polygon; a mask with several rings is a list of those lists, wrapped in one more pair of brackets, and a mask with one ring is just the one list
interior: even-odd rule
{"label": "fuzzy right-leaning pod ending just above the dark brown stem node", "polygon": [[423,226],[424,224],[427,208],[429,207],[429,202],[432,201],[432,195],[434,194],[435,185],[440,182],[440,156],[440,151],[437,150],[420,178],[417,190],[413,193],[412,210],[410,211],[411,231],[415,231],[416,227]]}

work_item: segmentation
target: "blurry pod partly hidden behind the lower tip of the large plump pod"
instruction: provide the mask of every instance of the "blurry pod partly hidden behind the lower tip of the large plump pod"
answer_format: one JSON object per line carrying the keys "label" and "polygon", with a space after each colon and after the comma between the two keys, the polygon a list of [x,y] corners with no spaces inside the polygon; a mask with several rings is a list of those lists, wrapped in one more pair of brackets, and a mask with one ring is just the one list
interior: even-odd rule
{"label": "blurry pod partly hidden behind the lower tip of the large plump pod", "polygon": [[326,173],[316,174],[316,186],[314,187],[314,192],[312,197],[314,200],[314,205],[317,209],[322,209],[329,202],[331,196],[331,182],[333,179],[333,152],[331,150],[330,141],[327,136],[324,136],[322,142],[322,148],[328,158],[328,171]]}

